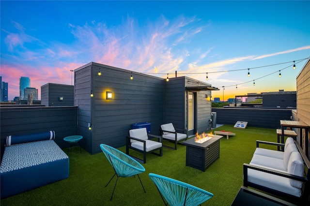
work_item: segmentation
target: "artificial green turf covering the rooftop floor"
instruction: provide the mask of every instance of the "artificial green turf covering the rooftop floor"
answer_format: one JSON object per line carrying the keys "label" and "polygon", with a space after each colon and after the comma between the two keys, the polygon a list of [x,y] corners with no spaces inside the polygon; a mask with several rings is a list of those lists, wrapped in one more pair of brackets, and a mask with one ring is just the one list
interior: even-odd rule
{"label": "artificial green turf covering the rooftop floor", "polygon": [[[179,144],[177,150],[163,148],[163,156],[147,155],[143,164],[145,173],[140,174],[147,193],[144,193],[138,177],[119,178],[113,200],[110,195],[116,177],[105,187],[114,171],[103,153],[82,154],[76,147],[69,152],[70,176],[67,179],[2,199],[1,206],[161,206],[164,205],[149,173],[171,177],[199,187],[214,194],[202,205],[230,206],[243,185],[243,163],[249,163],[256,148],[256,140],[277,141],[276,129],[235,129],[224,125],[215,131],[236,133],[228,140],[220,140],[220,157],[205,172],[185,165],[186,146]],[[164,144],[171,144],[164,142]],[[271,147],[271,146],[268,146]],[[273,147],[276,149],[275,147]],[[125,147],[118,148],[125,152]],[[64,151],[67,151],[64,149]],[[130,154],[142,158],[141,153]],[[16,187],[18,187],[16,185]]]}

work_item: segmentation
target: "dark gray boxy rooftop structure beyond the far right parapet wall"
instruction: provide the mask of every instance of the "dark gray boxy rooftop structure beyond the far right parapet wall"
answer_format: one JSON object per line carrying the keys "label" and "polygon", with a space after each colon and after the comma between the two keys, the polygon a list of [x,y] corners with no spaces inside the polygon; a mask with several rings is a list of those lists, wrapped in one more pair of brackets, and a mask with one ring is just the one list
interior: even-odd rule
{"label": "dark gray boxy rooftop structure beyond the far right parapet wall", "polygon": [[263,95],[263,107],[294,107],[296,108],[296,94]]}

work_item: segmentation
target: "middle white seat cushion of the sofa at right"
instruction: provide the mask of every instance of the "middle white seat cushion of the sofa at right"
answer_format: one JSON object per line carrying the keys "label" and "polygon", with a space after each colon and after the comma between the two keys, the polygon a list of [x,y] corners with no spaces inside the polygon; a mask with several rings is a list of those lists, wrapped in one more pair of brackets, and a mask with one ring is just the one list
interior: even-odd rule
{"label": "middle white seat cushion of the sofa at right", "polygon": [[254,154],[250,164],[257,164],[273,169],[278,169],[281,172],[287,172],[287,169],[284,166],[284,162],[278,158],[267,157],[263,155]]}

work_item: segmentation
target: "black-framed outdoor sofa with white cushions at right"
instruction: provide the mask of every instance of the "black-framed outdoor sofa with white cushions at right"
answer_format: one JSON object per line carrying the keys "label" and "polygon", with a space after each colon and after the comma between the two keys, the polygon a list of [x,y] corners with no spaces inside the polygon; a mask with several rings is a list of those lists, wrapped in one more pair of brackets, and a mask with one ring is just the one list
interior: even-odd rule
{"label": "black-framed outdoor sofa with white cushions at right", "polygon": [[[260,148],[260,144],[284,147],[284,151]],[[285,144],[257,141],[249,164],[244,163],[244,186],[307,202],[310,162],[293,138]]]}

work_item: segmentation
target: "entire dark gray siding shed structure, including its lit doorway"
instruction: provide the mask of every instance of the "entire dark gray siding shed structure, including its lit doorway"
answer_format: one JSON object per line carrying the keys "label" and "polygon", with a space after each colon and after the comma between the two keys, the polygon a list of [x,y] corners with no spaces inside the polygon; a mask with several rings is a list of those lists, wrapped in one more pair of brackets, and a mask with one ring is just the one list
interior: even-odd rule
{"label": "entire dark gray siding shed structure, including its lit doorway", "polygon": [[74,78],[78,133],[92,154],[101,151],[102,143],[124,146],[135,123],[150,123],[153,134],[169,122],[189,135],[211,127],[211,90],[218,89],[198,80],[181,76],[167,82],[95,62],[76,69]]}

